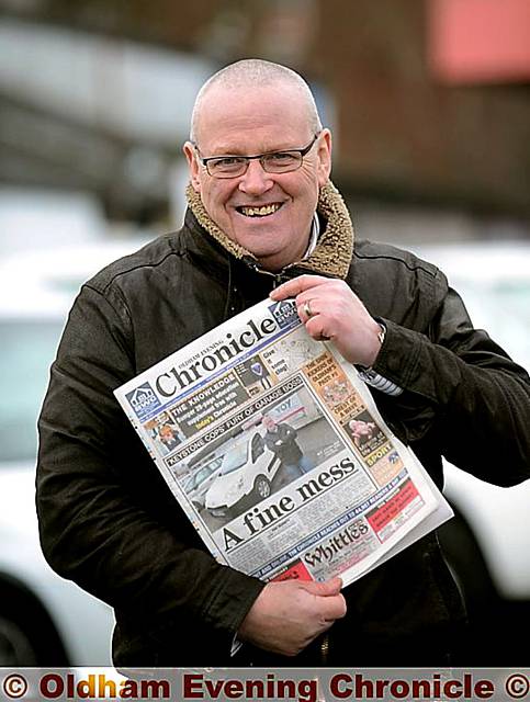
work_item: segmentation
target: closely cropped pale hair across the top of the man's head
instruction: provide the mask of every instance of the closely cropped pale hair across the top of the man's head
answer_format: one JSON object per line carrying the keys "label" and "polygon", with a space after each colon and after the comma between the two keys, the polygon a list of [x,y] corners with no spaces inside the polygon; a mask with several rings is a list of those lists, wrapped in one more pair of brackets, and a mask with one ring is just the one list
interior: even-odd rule
{"label": "closely cropped pale hair across the top of the man's head", "polygon": [[222,68],[208,78],[201,88],[191,117],[190,140],[198,143],[200,139],[201,117],[203,110],[207,109],[208,98],[219,98],[223,93],[230,91],[271,87],[284,88],[295,93],[301,105],[307,112],[309,132],[313,134],[320,132],[323,127],[315,99],[305,80],[294,70],[280,64],[248,58]]}

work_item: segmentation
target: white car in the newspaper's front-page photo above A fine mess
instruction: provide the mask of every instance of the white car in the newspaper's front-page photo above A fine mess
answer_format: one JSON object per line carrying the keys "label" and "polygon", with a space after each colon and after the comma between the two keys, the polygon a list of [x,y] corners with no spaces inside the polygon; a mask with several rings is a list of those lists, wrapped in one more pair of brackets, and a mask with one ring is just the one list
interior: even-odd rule
{"label": "white car in the newspaper's front-page photo above A fine mess", "polygon": [[226,449],[221,473],[206,492],[206,509],[214,517],[235,513],[245,500],[268,498],[281,466],[281,461],[256,430],[235,439]]}

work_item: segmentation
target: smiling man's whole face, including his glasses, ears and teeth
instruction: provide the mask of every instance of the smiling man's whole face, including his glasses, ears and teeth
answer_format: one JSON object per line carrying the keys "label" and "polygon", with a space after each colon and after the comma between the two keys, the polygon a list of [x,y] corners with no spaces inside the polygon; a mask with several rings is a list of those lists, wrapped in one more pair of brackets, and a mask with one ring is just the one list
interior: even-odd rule
{"label": "smiling man's whole face, including his glasses, ears and teeth", "polygon": [[261,80],[266,70],[269,82],[259,89],[248,73],[232,80],[234,70],[206,83],[184,152],[212,219],[263,268],[278,271],[307,250],[331,170],[331,135],[304,82],[263,67]]}

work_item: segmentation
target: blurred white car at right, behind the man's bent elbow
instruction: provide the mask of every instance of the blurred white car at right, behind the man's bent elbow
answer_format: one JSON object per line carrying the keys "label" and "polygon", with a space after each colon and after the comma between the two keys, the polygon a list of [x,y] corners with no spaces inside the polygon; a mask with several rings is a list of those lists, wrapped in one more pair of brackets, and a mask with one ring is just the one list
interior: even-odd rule
{"label": "blurred white car at right, behind the man's bent elbow", "polygon": [[[530,370],[530,244],[411,248],[448,275],[474,326]],[[444,473],[455,518],[440,539],[466,596],[477,665],[517,665],[527,650],[517,632],[530,625],[530,480],[501,488],[449,463]]]}

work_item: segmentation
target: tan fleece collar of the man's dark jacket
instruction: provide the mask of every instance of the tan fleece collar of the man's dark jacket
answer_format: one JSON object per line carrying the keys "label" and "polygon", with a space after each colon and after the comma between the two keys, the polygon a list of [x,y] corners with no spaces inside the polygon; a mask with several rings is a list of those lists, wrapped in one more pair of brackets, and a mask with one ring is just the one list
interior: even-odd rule
{"label": "tan fleece collar of the man's dark jacket", "polygon": [[[236,259],[256,261],[250,251],[229,239],[215,224],[207,214],[201,196],[191,184],[188,185],[185,195],[191,211],[203,229]],[[312,273],[346,278],[353,253],[353,226],[345,202],[331,181],[328,181],[320,189],[317,212],[323,215],[325,228],[320,231],[318,244],[313,253],[303,261],[296,261],[296,267]]]}

